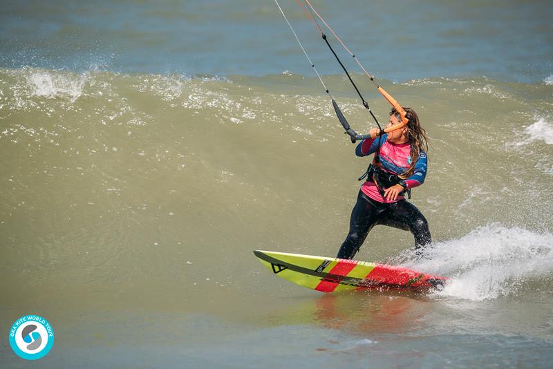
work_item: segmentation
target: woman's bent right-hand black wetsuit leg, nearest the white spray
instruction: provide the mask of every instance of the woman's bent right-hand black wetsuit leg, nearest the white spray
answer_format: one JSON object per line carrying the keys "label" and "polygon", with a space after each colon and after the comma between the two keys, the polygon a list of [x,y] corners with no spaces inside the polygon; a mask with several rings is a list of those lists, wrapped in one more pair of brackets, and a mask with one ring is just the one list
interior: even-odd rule
{"label": "woman's bent right-hand black wetsuit leg, nearest the white spray", "polygon": [[415,205],[406,200],[399,200],[391,204],[377,219],[379,225],[411,231],[415,236],[415,249],[420,249],[432,242],[427,218]]}

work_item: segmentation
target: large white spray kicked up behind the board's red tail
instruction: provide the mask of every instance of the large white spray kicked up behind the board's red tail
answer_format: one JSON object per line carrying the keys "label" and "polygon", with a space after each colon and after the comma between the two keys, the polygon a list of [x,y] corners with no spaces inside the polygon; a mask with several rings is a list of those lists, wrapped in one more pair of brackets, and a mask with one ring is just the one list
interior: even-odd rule
{"label": "large white spray kicked up behind the board's red tail", "polygon": [[516,294],[527,281],[553,278],[553,234],[493,224],[435,243],[415,270],[448,276],[435,296],[481,301]]}

